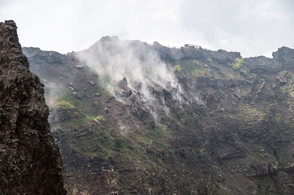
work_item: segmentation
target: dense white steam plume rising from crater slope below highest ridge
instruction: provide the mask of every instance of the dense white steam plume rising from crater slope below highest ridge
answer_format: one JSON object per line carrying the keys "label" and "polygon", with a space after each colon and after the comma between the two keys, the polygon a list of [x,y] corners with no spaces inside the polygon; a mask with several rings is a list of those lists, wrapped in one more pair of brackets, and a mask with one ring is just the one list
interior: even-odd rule
{"label": "dense white steam plume rising from crater slope below highest ridge", "polygon": [[[169,112],[164,103],[164,96],[155,97],[153,89],[169,90],[177,103],[186,99],[180,92],[181,88],[171,70],[163,63],[151,45],[138,40],[119,40],[118,37],[102,37],[89,49],[79,52],[81,61],[93,67],[99,75],[111,78],[109,91],[123,103],[126,98],[120,96],[114,83],[126,78],[128,87],[139,92],[140,100],[157,119],[159,110]],[[184,98],[183,98],[184,97]]]}

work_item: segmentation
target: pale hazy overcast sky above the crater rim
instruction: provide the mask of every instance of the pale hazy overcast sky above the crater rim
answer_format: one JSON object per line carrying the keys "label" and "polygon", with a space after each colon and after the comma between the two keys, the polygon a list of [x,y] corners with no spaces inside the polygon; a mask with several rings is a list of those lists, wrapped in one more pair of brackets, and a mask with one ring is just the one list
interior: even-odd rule
{"label": "pale hazy overcast sky above the crater rim", "polygon": [[22,46],[60,53],[102,36],[165,46],[265,55],[294,48],[293,0],[0,0],[0,21],[14,20]]}

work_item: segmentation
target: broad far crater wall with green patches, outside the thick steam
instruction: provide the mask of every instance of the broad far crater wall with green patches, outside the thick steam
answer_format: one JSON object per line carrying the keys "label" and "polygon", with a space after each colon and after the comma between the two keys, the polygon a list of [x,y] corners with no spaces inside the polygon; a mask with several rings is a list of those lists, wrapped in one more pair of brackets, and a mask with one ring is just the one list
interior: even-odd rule
{"label": "broad far crater wall with green patches, outside the thick steam", "polygon": [[[117,41],[103,37],[84,52],[104,65],[124,52]],[[294,193],[293,49],[241,59],[127,42],[136,65],[156,54],[178,86],[143,90],[127,76],[111,82],[81,54],[23,48],[45,85],[69,194]]]}

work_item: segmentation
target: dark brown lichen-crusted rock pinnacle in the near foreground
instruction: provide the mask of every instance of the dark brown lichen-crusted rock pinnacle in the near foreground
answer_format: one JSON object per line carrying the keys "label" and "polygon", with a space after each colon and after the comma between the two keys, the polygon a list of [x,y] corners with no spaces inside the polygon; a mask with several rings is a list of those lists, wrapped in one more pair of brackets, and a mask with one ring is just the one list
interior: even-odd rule
{"label": "dark brown lichen-crusted rock pinnacle in the near foreground", "polygon": [[43,84],[29,71],[14,21],[0,23],[0,194],[66,194]]}

